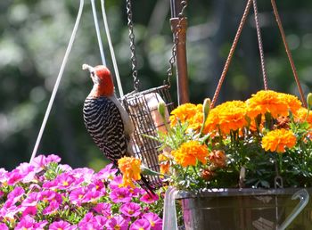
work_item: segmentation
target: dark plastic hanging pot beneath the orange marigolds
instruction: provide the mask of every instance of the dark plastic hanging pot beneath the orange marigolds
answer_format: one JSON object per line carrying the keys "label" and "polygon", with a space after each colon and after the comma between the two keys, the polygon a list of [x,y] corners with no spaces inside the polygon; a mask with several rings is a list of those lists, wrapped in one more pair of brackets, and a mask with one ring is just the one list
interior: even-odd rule
{"label": "dark plastic hanging pot beneath the orange marigolds", "polygon": [[186,230],[308,230],[311,194],[312,188],[218,189],[179,192],[177,200],[182,202]]}

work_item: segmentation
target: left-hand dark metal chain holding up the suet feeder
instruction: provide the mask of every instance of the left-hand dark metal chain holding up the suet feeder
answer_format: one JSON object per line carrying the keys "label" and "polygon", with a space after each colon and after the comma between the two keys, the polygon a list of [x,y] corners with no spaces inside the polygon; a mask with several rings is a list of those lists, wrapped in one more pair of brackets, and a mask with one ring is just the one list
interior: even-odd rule
{"label": "left-hand dark metal chain holding up the suet feeder", "polygon": [[126,0],[127,7],[127,27],[129,29],[129,39],[130,39],[130,52],[131,52],[131,70],[132,77],[134,78],[134,88],[135,92],[138,92],[139,82],[140,80],[137,78],[137,62],[136,62],[136,54],[135,54],[135,33],[134,26],[132,20],[132,4],[131,0]]}

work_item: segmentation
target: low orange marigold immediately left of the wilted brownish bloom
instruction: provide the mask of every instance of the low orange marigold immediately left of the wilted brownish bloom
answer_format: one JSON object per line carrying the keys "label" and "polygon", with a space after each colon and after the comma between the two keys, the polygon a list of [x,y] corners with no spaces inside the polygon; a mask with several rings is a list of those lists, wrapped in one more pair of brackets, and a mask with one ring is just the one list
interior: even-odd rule
{"label": "low orange marigold immediately left of the wilted brownish bloom", "polygon": [[208,147],[204,144],[200,144],[197,141],[189,141],[181,144],[180,148],[171,152],[174,160],[177,161],[182,167],[190,165],[195,166],[196,160],[201,163],[207,163]]}

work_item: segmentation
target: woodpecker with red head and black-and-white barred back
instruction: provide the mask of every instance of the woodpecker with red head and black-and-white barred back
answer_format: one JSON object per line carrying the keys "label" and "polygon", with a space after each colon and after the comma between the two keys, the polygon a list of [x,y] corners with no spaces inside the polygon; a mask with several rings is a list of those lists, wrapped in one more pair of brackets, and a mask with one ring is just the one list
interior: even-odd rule
{"label": "woodpecker with red head and black-and-white barred back", "polygon": [[[103,154],[117,166],[124,156],[133,156],[131,134],[134,126],[127,111],[119,103],[111,78],[105,66],[82,65],[89,70],[94,86],[84,103],[86,129]],[[142,176],[139,185],[152,192],[146,177]]]}

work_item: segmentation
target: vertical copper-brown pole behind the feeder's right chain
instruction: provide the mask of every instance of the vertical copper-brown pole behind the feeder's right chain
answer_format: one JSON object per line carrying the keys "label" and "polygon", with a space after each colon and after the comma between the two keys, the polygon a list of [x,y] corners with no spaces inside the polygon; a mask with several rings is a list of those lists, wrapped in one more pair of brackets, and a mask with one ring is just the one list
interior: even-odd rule
{"label": "vertical copper-brown pole behind the feeder's right chain", "polygon": [[[188,103],[189,89],[187,78],[187,60],[186,60],[186,28],[187,19],[184,17],[179,25],[179,32],[177,33],[177,25],[179,18],[177,13],[181,12],[181,0],[171,0],[171,30],[177,37],[177,96],[178,104]],[[175,41],[176,42],[176,41]]]}

